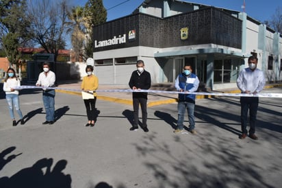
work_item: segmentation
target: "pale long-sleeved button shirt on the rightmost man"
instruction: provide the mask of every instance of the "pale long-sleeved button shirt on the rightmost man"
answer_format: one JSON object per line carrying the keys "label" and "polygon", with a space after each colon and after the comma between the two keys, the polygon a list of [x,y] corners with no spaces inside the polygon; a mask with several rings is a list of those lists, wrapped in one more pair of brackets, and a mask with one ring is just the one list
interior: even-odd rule
{"label": "pale long-sleeved button shirt on the rightmost man", "polygon": [[237,86],[242,93],[245,91],[259,93],[264,89],[265,84],[264,72],[259,69],[255,69],[255,71],[252,71],[250,68],[243,69],[240,71],[237,79]]}

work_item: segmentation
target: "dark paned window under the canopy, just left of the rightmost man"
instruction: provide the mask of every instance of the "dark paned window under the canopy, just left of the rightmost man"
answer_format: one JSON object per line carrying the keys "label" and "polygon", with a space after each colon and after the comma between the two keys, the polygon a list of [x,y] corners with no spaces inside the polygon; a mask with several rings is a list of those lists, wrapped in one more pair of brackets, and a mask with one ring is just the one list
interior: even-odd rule
{"label": "dark paned window under the canopy, just left of the rightmost man", "polygon": [[214,60],[214,83],[230,83],[231,60]]}

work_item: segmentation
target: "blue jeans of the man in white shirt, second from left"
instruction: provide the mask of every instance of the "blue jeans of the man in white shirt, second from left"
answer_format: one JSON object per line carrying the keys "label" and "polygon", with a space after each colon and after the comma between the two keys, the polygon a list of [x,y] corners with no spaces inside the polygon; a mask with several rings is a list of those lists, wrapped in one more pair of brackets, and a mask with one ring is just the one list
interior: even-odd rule
{"label": "blue jeans of the man in white shirt, second from left", "polygon": [[54,121],[55,90],[43,91],[43,104],[46,111],[46,121]]}

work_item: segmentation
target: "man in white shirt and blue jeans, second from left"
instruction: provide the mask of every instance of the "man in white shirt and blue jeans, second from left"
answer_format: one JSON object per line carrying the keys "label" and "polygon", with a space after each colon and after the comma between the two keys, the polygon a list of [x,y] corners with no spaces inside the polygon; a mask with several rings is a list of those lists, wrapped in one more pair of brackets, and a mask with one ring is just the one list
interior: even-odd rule
{"label": "man in white shirt and blue jeans, second from left", "polygon": [[54,124],[55,119],[55,89],[46,89],[55,86],[55,73],[50,70],[50,63],[43,63],[43,72],[39,74],[36,86],[43,86],[42,99],[46,111],[46,121],[42,124]]}

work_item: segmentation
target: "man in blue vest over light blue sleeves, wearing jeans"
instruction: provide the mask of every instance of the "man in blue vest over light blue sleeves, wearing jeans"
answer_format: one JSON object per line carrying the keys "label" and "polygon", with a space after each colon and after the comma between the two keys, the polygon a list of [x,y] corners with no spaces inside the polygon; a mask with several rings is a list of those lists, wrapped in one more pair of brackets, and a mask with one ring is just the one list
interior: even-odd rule
{"label": "man in blue vest over light blue sleeves, wearing jeans", "polygon": [[179,93],[178,95],[178,119],[177,119],[177,129],[173,132],[179,133],[183,131],[183,121],[185,109],[188,112],[189,119],[189,131],[192,134],[196,134],[195,120],[194,120],[194,108],[195,108],[195,99],[196,95],[189,94],[195,92],[198,89],[199,80],[198,77],[192,73],[192,67],[190,64],[185,65],[183,68],[183,73],[180,73],[175,80],[175,88],[177,91],[181,91],[187,94]]}

